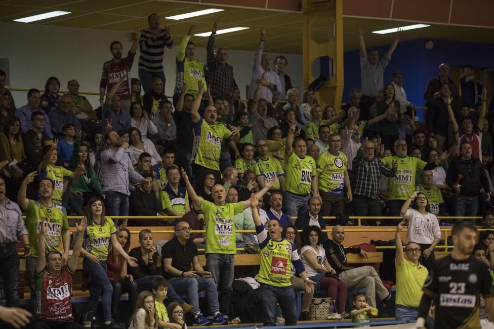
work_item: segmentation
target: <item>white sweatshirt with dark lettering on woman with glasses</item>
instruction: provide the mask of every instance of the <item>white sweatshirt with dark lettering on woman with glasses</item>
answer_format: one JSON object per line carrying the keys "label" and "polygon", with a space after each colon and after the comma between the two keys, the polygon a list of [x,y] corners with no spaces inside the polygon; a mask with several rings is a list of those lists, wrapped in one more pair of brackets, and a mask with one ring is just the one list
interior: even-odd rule
{"label": "white sweatshirt with dark lettering on woman with glasses", "polygon": [[439,221],[434,214],[422,215],[415,209],[409,208],[404,216],[407,219],[408,242],[430,245],[434,238],[441,238]]}

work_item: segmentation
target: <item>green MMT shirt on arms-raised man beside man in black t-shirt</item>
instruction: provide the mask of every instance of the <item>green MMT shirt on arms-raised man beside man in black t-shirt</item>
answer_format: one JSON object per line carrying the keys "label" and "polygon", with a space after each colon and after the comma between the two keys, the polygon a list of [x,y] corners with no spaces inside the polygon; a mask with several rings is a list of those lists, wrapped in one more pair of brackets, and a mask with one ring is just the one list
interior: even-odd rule
{"label": "green MMT shirt on arms-raised man beside man in black t-shirt", "polygon": [[216,122],[210,125],[201,116],[199,121],[194,123],[193,163],[219,170],[221,142],[230,136],[232,132],[223,123]]}

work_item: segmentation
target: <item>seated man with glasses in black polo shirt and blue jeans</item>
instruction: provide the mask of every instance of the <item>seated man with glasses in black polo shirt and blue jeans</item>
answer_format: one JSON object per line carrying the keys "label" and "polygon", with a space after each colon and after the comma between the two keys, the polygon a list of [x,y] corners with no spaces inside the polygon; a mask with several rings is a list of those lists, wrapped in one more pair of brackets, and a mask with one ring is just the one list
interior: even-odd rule
{"label": "seated man with glasses in black polo shirt and blue jeans", "polygon": [[[164,264],[163,274],[177,293],[187,293],[187,300],[194,308],[194,326],[206,326],[211,323],[206,320],[199,308],[199,287],[206,289],[207,304],[214,316],[214,325],[224,325],[228,322],[219,312],[218,286],[211,272],[205,271],[197,257],[197,246],[190,239],[190,225],[179,221],[175,225],[175,236],[162,249]],[[194,268],[190,270],[191,264]]]}

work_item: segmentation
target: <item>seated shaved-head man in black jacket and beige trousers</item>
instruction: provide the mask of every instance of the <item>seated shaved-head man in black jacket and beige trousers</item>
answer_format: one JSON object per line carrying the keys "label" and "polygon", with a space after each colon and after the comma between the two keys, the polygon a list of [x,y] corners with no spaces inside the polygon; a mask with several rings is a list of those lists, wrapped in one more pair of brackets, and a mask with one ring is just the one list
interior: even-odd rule
{"label": "seated shaved-head man in black jacket and beige trousers", "polygon": [[379,275],[372,266],[352,267],[346,262],[346,254],[360,254],[361,257],[367,259],[367,253],[360,248],[343,248],[343,240],[345,239],[345,230],[343,226],[336,225],[331,231],[332,239],[329,239],[324,244],[326,258],[329,264],[336,271],[338,278],[346,283],[348,289],[366,289],[366,297],[369,305],[376,306],[375,293],[379,298],[387,300],[391,297],[391,293],[384,288]]}

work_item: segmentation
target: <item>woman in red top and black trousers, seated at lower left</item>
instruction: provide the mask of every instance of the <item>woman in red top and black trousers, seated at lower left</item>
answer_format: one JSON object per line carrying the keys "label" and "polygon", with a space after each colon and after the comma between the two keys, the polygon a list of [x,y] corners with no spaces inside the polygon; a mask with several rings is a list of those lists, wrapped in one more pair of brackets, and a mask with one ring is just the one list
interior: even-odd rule
{"label": "woman in red top and black trousers, seated at lower left", "polygon": [[[122,246],[125,254],[130,248],[130,231],[122,226],[117,229],[117,240]],[[139,293],[137,283],[132,275],[127,274],[127,261],[115,248],[108,248],[108,258],[106,260],[106,275],[113,287],[112,295],[112,316],[115,319],[119,310],[120,297],[122,293],[128,293],[130,311],[135,305],[137,294]]]}

